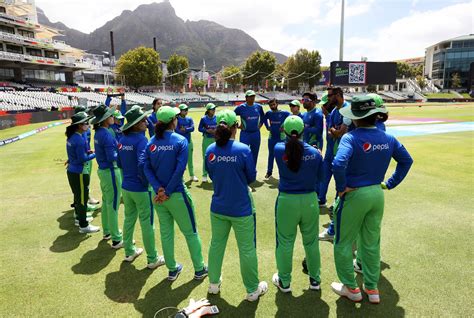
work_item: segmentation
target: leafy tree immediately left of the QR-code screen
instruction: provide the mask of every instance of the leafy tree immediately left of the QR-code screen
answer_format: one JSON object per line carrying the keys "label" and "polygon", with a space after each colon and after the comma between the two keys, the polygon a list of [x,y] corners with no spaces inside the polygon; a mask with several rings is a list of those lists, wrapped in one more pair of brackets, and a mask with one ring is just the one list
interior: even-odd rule
{"label": "leafy tree immediately left of the QR-code screen", "polygon": [[318,51],[299,49],[288,58],[286,67],[289,78],[304,73],[302,76],[290,80],[291,87],[296,88],[299,86],[299,83],[303,83],[311,89],[321,78],[321,55]]}

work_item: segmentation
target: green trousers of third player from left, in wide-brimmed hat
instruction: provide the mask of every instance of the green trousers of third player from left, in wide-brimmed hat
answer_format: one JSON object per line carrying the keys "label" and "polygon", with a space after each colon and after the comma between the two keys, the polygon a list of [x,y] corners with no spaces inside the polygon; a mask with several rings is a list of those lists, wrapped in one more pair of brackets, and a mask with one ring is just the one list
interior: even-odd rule
{"label": "green trousers of third player from left, in wide-brimmed hat", "polygon": [[155,226],[153,222],[155,212],[153,211],[151,191],[132,192],[122,189],[122,197],[125,207],[125,220],[123,222],[125,256],[130,256],[135,253],[133,232],[135,231],[135,223],[137,219],[139,219],[148,263],[156,262],[157,252],[155,246]]}

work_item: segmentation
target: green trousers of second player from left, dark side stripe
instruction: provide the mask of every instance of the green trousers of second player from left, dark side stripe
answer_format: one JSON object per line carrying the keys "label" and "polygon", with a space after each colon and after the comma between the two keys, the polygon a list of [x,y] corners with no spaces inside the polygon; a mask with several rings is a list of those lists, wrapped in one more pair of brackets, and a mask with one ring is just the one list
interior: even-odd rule
{"label": "green trousers of second player from left, dark side stripe", "polygon": [[118,208],[122,192],[122,175],[119,168],[98,169],[97,174],[102,191],[102,228],[104,235],[110,234],[112,241],[121,241],[118,224]]}

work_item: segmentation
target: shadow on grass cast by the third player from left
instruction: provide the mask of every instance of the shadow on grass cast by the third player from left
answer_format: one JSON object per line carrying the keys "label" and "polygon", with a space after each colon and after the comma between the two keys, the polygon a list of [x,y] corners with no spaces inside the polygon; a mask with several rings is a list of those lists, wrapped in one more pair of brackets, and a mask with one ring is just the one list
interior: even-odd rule
{"label": "shadow on grass cast by the third player from left", "polygon": [[105,295],[118,303],[134,303],[153,270],[137,269],[129,262],[122,262],[118,272],[105,277]]}

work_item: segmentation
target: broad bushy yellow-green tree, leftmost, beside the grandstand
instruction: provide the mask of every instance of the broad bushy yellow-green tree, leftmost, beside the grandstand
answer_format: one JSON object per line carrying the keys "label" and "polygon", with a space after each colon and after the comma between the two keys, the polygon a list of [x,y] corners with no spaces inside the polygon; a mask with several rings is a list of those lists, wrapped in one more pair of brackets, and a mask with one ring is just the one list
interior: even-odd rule
{"label": "broad bushy yellow-green tree, leftmost, beside the grandstand", "polygon": [[161,82],[160,54],[152,48],[138,47],[123,54],[117,62],[118,74],[125,76],[128,86],[157,86]]}

